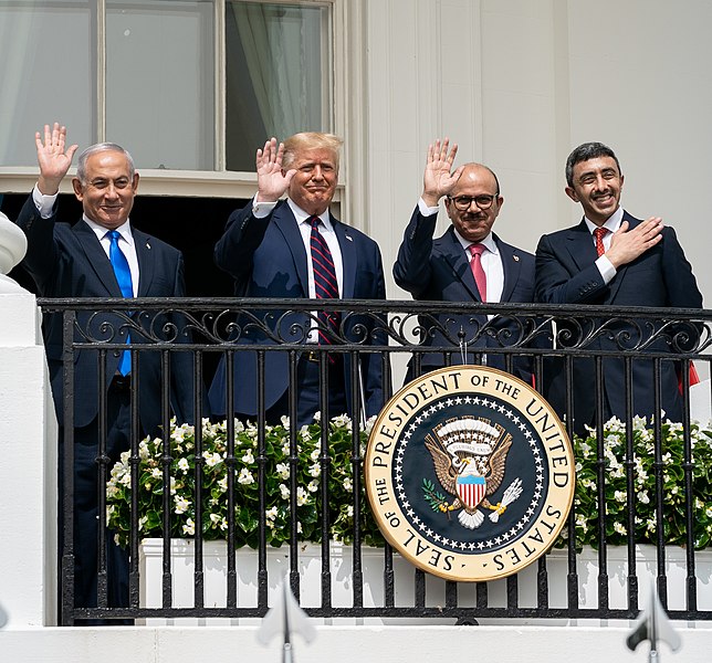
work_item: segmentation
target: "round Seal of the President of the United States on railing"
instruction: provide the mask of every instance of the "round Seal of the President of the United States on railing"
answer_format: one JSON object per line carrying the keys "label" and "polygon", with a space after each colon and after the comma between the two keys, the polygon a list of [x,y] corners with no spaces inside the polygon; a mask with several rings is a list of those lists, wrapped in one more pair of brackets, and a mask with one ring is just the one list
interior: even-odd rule
{"label": "round Seal of the President of the United States on railing", "polygon": [[415,566],[454,581],[521,571],[556,540],[575,462],[551,406],[522,380],[451,366],[386,404],[365,459],[384,536]]}

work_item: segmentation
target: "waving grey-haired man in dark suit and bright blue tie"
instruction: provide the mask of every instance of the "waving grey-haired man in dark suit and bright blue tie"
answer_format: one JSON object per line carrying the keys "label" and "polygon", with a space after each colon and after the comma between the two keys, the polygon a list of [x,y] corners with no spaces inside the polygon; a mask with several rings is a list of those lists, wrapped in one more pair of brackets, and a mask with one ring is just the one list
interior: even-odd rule
{"label": "waving grey-haired man in dark suit and bright blue tie", "polygon": [[[132,228],[128,214],[138,189],[138,173],[130,155],[114,144],[100,144],[78,157],[74,193],[82,202],[83,219],[74,225],[55,223],[59,187],[66,175],[76,145],[65,146],[66,129],[54,124],[44,127],[44,140],[35,135],[40,178],[17,220],[28,238],[28,253],[22,265],[33,277],[43,297],[180,297],[184,295],[184,264],[179,251]],[[117,234],[112,239],[112,231]],[[114,246],[112,245],[114,244]],[[114,253],[121,252],[117,259]],[[116,272],[113,263],[126,267]],[[126,271],[130,275],[126,274]],[[123,274],[123,275],[122,275]],[[123,277],[126,282],[122,283]],[[124,290],[122,290],[124,288]],[[142,343],[135,325],[150,326],[161,334],[164,323],[177,322],[163,316],[153,319],[133,312],[128,318],[116,314],[77,313],[77,327],[98,340],[113,338]],[[108,329],[108,332],[107,332]],[[64,389],[62,316],[50,314],[43,320],[43,334],[61,427],[60,449],[64,439]],[[76,340],[86,340],[78,333]],[[106,412],[106,455],[116,462],[129,449],[132,433],[130,390],[138,385],[138,430],[156,435],[164,421],[161,412],[160,354],[139,351],[138,380],[134,380],[130,354],[116,350],[106,354],[106,381],[98,385],[100,356],[96,350],[75,350],[74,355],[74,555],[75,606],[97,604],[97,455],[100,402]],[[186,352],[171,357],[172,403],[180,421],[193,413],[192,375]],[[62,456],[62,453],[60,454]],[[109,467],[111,470],[111,464]],[[62,485],[62,484],[61,484]],[[127,606],[126,556],[113,541],[107,549],[109,606]]]}

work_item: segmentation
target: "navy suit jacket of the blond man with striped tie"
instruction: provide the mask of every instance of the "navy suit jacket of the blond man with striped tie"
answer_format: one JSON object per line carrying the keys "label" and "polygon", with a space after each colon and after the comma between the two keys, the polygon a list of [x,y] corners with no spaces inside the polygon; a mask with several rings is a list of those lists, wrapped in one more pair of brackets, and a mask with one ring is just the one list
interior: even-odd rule
{"label": "navy suit jacket of the blond man with striped tie", "polygon": [[[331,217],[338,239],[344,265],[342,296],[344,299],[385,299],[380,250],[374,240],[363,232],[345,225]],[[259,298],[307,298],[308,275],[306,250],[296,219],[286,201],[281,201],[272,213],[258,219],[252,206],[235,210],[226,227],[226,232],[216,245],[216,263],[234,278],[235,296]],[[249,318],[238,320],[238,344],[305,343],[311,323],[306,314],[283,315],[283,312],[254,311],[252,315],[272,325],[270,334],[250,325]],[[362,316],[346,316],[344,336],[347,340],[362,343],[369,339],[373,320]],[[377,334],[378,337],[378,334]],[[362,371],[368,415],[383,407],[381,358],[362,354]],[[344,362],[346,403],[350,407],[350,359]],[[255,354],[238,351],[234,355],[234,408],[242,414],[256,414],[258,372]],[[265,354],[265,408],[273,406],[289,387],[289,357],[286,352]],[[331,387],[331,386],[329,386]],[[220,361],[210,388],[210,406],[213,414],[226,413],[226,365]]]}

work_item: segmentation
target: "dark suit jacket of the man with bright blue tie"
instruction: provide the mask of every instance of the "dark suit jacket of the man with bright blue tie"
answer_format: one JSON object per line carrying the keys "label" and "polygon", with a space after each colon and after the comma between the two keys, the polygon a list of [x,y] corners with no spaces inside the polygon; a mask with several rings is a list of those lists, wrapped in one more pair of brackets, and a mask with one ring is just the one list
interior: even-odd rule
{"label": "dark suit jacket of the man with bright blue tie", "polygon": [[[56,213],[56,208],[54,210]],[[54,215],[42,219],[30,196],[17,220],[28,238],[28,253],[22,265],[33,277],[39,294],[43,297],[122,297],[114,270],[94,231],[84,222],[75,225],[55,223]],[[182,255],[165,242],[132,229],[138,257],[138,296],[140,297],[181,297],[185,294]],[[135,319],[148,324],[148,318],[134,314]],[[153,318],[153,316],[151,316]],[[150,325],[151,334],[163,334],[164,324],[170,322],[167,315]],[[107,323],[115,328],[125,320],[111,314],[93,315],[91,312],[77,314],[81,329],[88,330],[94,338],[109,340],[109,334],[102,332],[101,325]],[[182,326],[179,320],[175,320]],[[43,322],[52,392],[54,394],[57,419],[63,423],[63,371],[62,371],[62,315],[49,314]],[[85,340],[78,333],[77,341]],[[116,341],[116,339],[114,339]],[[123,340],[123,338],[122,338]],[[187,339],[182,339],[187,340]],[[133,334],[132,343],[142,343],[138,334]],[[106,359],[106,383],[108,386],[116,372],[121,358],[119,351],[111,351]],[[74,355],[74,425],[91,423],[98,411],[98,352],[96,350],[75,350]],[[161,368],[160,354],[139,352],[139,418],[145,433],[155,434],[161,419]],[[179,421],[191,421],[193,413],[191,360],[187,352],[176,352],[171,357],[172,404]]]}

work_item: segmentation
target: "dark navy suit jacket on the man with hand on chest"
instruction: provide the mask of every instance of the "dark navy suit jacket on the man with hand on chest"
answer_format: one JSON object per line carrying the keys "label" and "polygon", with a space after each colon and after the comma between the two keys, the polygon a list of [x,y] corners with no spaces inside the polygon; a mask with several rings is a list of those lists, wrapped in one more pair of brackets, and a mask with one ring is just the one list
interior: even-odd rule
{"label": "dark navy suit jacket on the man with hand on chest", "polygon": [[[628,212],[624,221],[630,228],[640,223]],[[664,228],[662,241],[646,251],[637,260],[621,266],[608,284],[594,264],[597,259],[591,234],[582,221],[578,225],[544,235],[536,249],[536,298],[548,304],[593,304],[612,306],[651,306],[701,308],[702,295],[697,285],[692,267],[674,230]],[[635,322],[634,322],[635,323]],[[646,329],[649,320],[640,320]],[[564,326],[559,325],[561,329]],[[692,326],[680,329],[691,335],[690,346],[694,345],[695,329]],[[631,334],[630,344],[640,339],[635,324],[619,324],[610,329]],[[573,330],[574,341],[579,333]],[[619,338],[625,338],[619,336]],[[619,349],[610,335],[598,335],[586,344],[587,348]],[[625,346],[624,346],[625,347]],[[647,348],[649,351],[667,351],[669,346],[660,339]],[[683,348],[684,349],[684,348]],[[643,350],[645,351],[645,350]],[[673,361],[662,361],[661,397],[662,409],[667,417],[680,421],[682,413],[678,377]],[[559,415],[565,413],[566,383],[561,358],[548,362],[544,380],[545,396]],[[626,414],[625,375],[622,360],[604,361],[605,417]],[[589,358],[574,361],[574,420],[575,430],[583,432],[584,424],[593,424],[595,412],[595,366]],[[632,361],[634,413],[650,418],[655,409],[653,365],[650,360]],[[650,419],[649,419],[650,420]]]}

